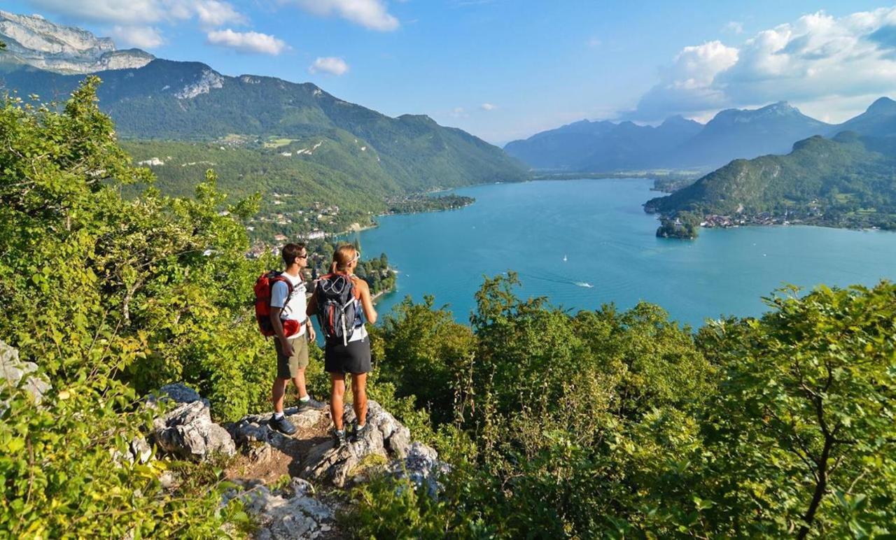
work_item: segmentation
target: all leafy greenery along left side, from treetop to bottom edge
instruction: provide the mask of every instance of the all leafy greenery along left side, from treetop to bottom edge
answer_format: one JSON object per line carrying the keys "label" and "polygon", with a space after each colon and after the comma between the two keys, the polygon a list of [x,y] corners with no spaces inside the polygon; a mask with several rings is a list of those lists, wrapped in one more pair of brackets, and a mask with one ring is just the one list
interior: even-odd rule
{"label": "all leafy greenery along left side, from treetop to bottom edge", "polygon": [[[0,390],[0,536],[239,536],[246,515],[219,509],[217,474],[184,464],[200,480],[172,491],[169,462],[120,456],[151,415],[136,397],[166,382],[194,383],[218,416],[263,402],[273,362],[241,222],[257,201],[220,215],[211,171],[192,200],[160,195],[117,145],[98,83],[62,112],[14,96],[0,109],[0,339],[53,385],[39,407]],[[150,187],[123,199],[127,184]]]}

